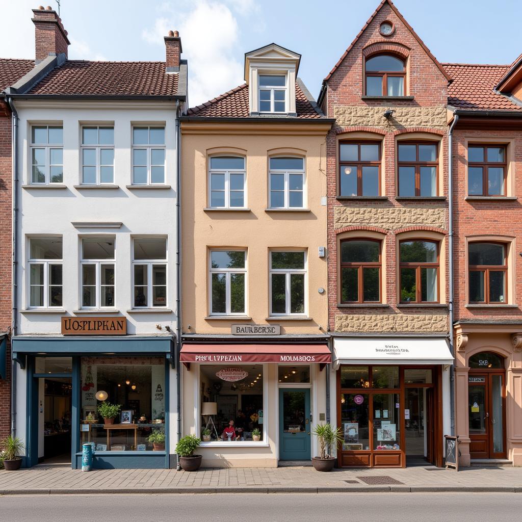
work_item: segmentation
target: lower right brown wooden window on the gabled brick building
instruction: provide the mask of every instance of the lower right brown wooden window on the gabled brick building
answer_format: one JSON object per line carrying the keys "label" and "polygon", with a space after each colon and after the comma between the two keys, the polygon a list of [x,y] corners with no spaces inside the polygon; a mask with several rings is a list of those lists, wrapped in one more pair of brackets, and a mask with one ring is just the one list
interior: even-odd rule
{"label": "lower right brown wooden window on the gabled brick building", "polygon": [[401,241],[399,269],[401,303],[438,303],[438,242]]}

